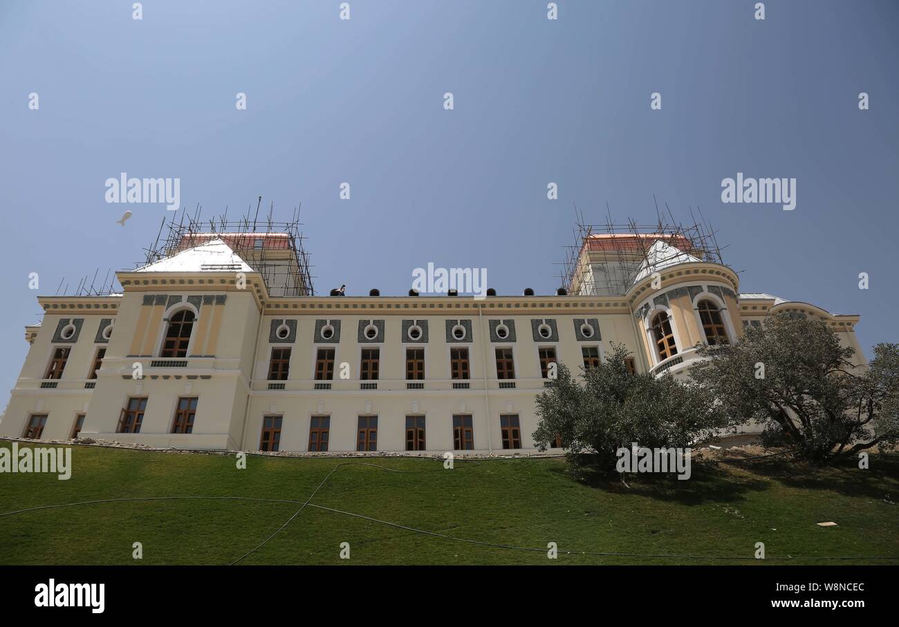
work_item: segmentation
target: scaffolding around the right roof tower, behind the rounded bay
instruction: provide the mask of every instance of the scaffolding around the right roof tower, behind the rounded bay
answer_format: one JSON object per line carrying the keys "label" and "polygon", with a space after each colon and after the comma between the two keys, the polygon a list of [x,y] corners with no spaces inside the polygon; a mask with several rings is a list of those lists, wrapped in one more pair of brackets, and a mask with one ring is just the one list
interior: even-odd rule
{"label": "scaffolding around the right roof tower, behind the rounded bay", "polygon": [[624,296],[641,273],[675,262],[699,260],[726,265],[717,231],[699,208],[699,220],[689,208],[687,224],[674,219],[667,203],[665,210],[663,215],[656,203],[655,224],[638,224],[633,218],[615,223],[607,203],[605,224],[592,225],[575,206],[574,244],[565,246],[562,286],[578,296]]}

